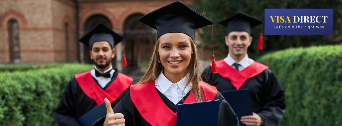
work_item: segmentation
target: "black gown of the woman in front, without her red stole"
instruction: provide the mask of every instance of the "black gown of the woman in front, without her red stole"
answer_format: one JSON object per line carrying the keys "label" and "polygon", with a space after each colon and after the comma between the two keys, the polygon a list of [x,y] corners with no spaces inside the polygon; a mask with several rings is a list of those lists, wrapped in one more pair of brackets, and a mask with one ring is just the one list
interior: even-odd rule
{"label": "black gown of the woman in front, without her red stole", "polygon": [[[158,90],[157,90],[158,91]],[[189,92],[190,93],[190,92]],[[187,93],[183,99],[186,99],[189,95]],[[177,105],[174,105],[165,95],[158,91],[159,96],[163,102],[171,109],[174,113],[177,112],[177,105],[183,104],[183,100],[179,101]],[[231,106],[223,98],[220,92],[218,92],[214,99],[220,99],[221,104],[219,108],[219,119],[218,126],[239,126],[237,116],[235,115]],[[151,126],[139,113],[133,104],[131,99],[130,91],[121,99],[121,101],[114,107],[114,113],[122,113],[125,119],[125,126]],[[158,111],[158,110],[152,110]],[[98,119],[94,122],[93,126],[102,126],[106,117]]]}

